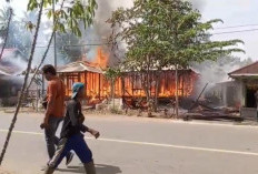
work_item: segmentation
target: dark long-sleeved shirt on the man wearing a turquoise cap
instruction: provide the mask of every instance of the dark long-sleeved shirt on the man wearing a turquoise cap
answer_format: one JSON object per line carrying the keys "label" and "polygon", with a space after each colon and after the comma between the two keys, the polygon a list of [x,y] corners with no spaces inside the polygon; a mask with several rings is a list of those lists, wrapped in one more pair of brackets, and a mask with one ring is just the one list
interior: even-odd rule
{"label": "dark long-sleeved shirt on the man wearing a turquoise cap", "polygon": [[81,113],[81,104],[77,100],[70,100],[67,104],[67,113],[63,119],[61,137],[70,137],[75,134],[87,132],[89,129],[83,125],[80,117],[83,116]]}

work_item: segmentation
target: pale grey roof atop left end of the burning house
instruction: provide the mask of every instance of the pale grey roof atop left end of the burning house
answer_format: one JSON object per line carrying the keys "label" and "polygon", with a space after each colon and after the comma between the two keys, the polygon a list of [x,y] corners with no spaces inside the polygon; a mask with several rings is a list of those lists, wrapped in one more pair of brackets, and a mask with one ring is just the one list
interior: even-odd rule
{"label": "pale grey roof atop left end of the burning house", "polygon": [[89,63],[87,61],[72,62],[72,63],[69,63],[67,65],[59,66],[57,69],[57,72],[59,72],[59,73],[85,72],[85,71],[96,72],[96,73],[103,73],[101,69],[98,69],[98,68],[93,66],[91,63]]}

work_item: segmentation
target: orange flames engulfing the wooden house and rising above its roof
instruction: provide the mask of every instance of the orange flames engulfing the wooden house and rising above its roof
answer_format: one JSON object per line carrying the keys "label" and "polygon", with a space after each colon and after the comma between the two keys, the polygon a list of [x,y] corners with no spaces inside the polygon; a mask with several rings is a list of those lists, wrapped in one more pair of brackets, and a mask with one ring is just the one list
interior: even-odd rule
{"label": "orange flames engulfing the wooden house and rising above its roof", "polygon": [[[97,48],[97,55],[92,62],[85,62],[86,64],[95,68],[106,69],[109,61],[109,54],[103,51],[101,47]],[[151,78],[150,95],[155,96],[156,92],[156,78],[155,72]],[[75,72],[67,73],[63,76],[64,82],[71,92],[71,84],[80,81],[86,83],[86,95],[89,99],[89,103],[97,103],[98,101],[109,98],[111,95],[111,84],[107,81],[103,74],[95,72]],[[66,81],[67,79],[67,81]],[[159,98],[173,98],[176,95],[176,76],[175,71],[162,71],[158,79],[158,96]],[[178,79],[178,95],[189,96],[194,92],[194,85],[197,80],[197,75],[192,71],[183,71]],[[142,86],[142,76],[135,73],[127,73],[123,79],[117,79],[115,83],[116,98],[129,96],[129,98],[145,98],[146,93]]]}

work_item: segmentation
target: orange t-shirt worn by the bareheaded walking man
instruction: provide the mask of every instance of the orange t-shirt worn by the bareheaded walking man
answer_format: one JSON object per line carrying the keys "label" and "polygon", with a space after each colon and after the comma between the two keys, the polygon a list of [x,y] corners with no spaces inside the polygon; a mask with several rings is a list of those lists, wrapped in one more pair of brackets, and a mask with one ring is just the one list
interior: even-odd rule
{"label": "orange t-shirt worn by the bareheaded walking man", "polygon": [[64,116],[64,96],[66,96],[66,86],[61,79],[54,78],[49,81],[47,98],[48,102],[52,99],[53,104],[51,105],[49,113],[50,116],[63,117]]}

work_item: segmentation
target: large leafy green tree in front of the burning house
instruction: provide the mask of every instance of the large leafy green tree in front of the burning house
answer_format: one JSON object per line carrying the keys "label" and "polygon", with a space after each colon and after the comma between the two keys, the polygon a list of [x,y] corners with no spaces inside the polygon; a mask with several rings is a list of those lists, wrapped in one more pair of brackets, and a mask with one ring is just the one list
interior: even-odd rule
{"label": "large leafy green tree in front of the burning house", "polygon": [[[127,43],[123,63],[143,74],[149,114],[153,70],[172,68],[177,72],[190,62],[216,60],[242,51],[235,48],[242,43],[240,40],[209,40],[212,24],[219,21],[202,22],[200,12],[182,0],[136,0],[132,8],[120,8],[112,13],[108,20],[113,29],[111,40]],[[177,92],[176,100],[178,103]]]}

